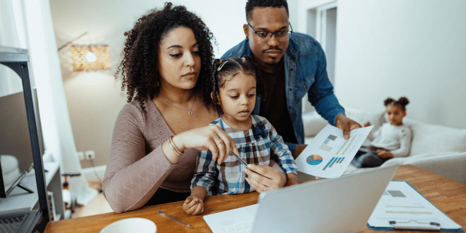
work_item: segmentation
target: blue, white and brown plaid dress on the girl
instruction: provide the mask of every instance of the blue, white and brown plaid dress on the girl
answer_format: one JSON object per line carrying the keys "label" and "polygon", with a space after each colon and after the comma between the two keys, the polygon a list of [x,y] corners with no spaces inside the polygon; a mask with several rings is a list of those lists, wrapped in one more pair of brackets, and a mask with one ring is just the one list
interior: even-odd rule
{"label": "blue, white and brown plaid dress on the girl", "polygon": [[[295,173],[297,167],[288,146],[275,131],[275,128],[261,116],[251,115],[253,125],[249,130],[236,130],[228,126],[222,118],[218,118],[210,125],[216,125],[225,130],[232,137],[239,151],[239,156],[248,164],[269,166],[271,150],[273,159],[283,169],[285,174]],[[197,172],[192,178],[191,189],[194,186],[204,187],[207,195],[237,194],[254,191],[246,182],[246,168],[230,153],[224,163],[218,165],[212,160],[212,152],[199,152],[196,161]]]}

